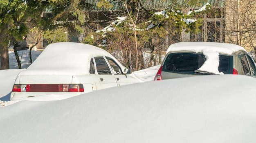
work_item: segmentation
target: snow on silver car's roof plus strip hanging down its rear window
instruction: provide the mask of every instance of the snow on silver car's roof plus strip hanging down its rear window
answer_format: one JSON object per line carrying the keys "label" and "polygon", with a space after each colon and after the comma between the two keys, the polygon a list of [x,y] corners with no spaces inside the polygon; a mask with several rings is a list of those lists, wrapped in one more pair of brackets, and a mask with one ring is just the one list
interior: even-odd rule
{"label": "snow on silver car's roof plus strip hanging down its rear window", "polygon": [[223,74],[219,72],[219,54],[232,55],[239,50],[245,50],[245,48],[230,44],[230,43],[214,43],[214,42],[180,42],[169,46],[166,50],[168,52],[195,52],[203,53],[206,61],[197,71],[209,72],[213,74]]}

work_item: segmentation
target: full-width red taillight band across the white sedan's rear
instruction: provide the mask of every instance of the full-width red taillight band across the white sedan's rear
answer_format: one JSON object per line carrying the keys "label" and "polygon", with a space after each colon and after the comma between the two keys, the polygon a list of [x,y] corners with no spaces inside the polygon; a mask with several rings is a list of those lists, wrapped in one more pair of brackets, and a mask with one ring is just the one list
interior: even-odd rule
{"label": "full-width red taillight band across the white sedan's rear", "polygon": [[12,92],[84,92],[82,84],[13,85]]}

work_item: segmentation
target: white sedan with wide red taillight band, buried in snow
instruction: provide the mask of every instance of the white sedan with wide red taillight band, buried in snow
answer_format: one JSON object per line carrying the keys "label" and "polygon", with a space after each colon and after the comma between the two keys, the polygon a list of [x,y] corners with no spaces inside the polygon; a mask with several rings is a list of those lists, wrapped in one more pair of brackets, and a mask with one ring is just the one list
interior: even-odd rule
{"label": "white sedan with wide red taillight band, buried in snow", "polygon": [[11,100],[40,95],[74,96],[143,82],[107,51],[84,43],[48,45],[13,85]]}

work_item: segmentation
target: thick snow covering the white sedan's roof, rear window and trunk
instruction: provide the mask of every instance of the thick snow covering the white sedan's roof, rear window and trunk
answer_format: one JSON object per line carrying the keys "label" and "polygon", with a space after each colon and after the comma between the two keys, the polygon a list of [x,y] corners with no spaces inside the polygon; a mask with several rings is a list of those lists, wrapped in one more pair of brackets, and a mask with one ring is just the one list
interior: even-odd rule
{"label": "thick snow covering the white sedan's roof, rear window and trunk", "polygon": [[119,63],[109,52],[96,46],[85,43],[60,42],[48,45],[20,75],[89,74],[90,59],[93,56],[108,56]]}

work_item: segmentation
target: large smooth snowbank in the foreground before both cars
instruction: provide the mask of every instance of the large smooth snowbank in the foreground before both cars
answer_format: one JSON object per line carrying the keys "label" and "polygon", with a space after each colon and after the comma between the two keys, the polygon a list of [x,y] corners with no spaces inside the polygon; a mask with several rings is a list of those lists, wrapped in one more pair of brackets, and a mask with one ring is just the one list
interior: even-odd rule
{"label": "large smooth snowbank in the foreground before both cars", "polygon": [[150,81],[0,108],[1,143],[245,143],[256,136],[256,79]]}

